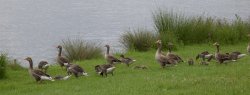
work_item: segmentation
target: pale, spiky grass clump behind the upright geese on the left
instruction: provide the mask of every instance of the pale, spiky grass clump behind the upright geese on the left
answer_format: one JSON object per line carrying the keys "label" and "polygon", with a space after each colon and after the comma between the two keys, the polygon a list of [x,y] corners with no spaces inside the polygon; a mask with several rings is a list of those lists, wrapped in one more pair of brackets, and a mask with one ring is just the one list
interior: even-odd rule
{"label": "pale, spiky grass clump behind the upright geese on the left", "polygon": [[81,39],[62,40],[63,54],[70,61],[93,59],[102,56],[99,44],[85,42]]}

